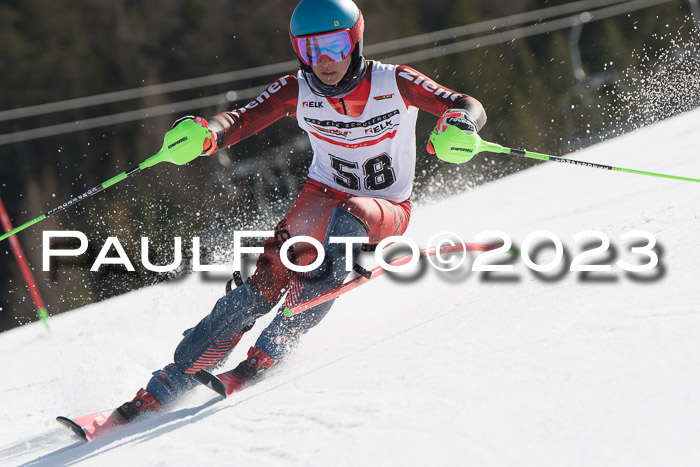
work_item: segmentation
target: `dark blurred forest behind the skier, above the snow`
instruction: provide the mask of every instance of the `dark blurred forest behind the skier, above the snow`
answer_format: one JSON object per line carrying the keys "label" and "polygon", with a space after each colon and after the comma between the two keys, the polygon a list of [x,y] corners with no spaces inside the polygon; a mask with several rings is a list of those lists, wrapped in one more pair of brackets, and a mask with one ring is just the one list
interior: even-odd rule
{"label": "dark blurred forest behind the skier, above the snow", "polygon": [[[366,47],[571,3],[356,2],[365,15]],[[679,54],[688,53],[688,47],[697,42],[697,31],[692,31],[693,2],[697,4],[696,0],[670,1],[586,24],[574,48],[585,72],[578,77],[570,29],[409,64],[481,100],[489,115],[482,131],[485,139],[561,155],[698,105],[692,97],[688,102],[687,96],[671,104],[663,96],[659,102],[649,102],[652,99],[645,96],[659,95],[651,87],[663,87],[664,81],[640,79],[674,66]],[[0,0],[0,111],[292,60],[287,28],[295,5],[290,0]],[[368,58],[382,60],[416,49]],[[229,91],[240,95],[272,82],[277,75],[13,118],[0,121],[0,135]],[[207,117],[245,104],[192,108],[1,144],[0,197],[13,224],[20,225],[157,152],[177,117]],[[175,279],[175,275],[148,273],[140,267],[143,236],[151,239],[151,260],[157,264],[172,259],[174,236],[183,237],[184,248],[191,247],[193,236],[200,236],[209,258],[223,262],[233,230],[272,228],[299,192],[311,160],[301,130],[293,120],[285,120],[211,158],[185,167],[149,169],[19,234],[49,312]],[[434,124],[430,115],[422,115],[418,123],[416,203],[530,166],[527,161],[483,155],[466,166],[440,163],[425,152],[423,144]],[[54,262],[50,272],[42,272],[44,230],[84,232],[90,240],[88,253],[75,261]],[[121,267],[89,271],[110,236],[119,238],[137,274]],[[0,308],[0,330],[36,319],[7,241],[0,243]]]}

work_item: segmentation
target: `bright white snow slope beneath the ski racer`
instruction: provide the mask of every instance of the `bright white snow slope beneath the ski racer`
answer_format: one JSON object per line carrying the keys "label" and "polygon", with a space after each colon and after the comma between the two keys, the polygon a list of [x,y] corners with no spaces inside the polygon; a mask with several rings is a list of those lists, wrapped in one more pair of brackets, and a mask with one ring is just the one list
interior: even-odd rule
{"label": "bright white snow slope beneath the ski racer", "polygon": [[[573,157],[700,177],[699,119]],[[378,278],[258,384],[222,402],[200,388],[90,444],[54,417],[129,399],[221,284],[191,276],[56,316],[50,334],[5,332],[0,464],[700,465],[699,206],[698,184],[552,163],[416,208],[407,235],[422,246],[443,230],[520,243],[545,229],[575,255],[572,236],[595,229],[631,261],[619,237],[641,229],[661,262],[648,280],[618,268],[543,280],[521,261],[505,280],[468,268]]]}

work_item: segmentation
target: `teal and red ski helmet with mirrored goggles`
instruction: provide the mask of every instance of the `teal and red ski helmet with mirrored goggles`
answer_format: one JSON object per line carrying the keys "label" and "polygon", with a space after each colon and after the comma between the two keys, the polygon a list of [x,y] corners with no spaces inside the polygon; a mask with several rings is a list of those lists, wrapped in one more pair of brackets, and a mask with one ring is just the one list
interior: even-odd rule
{"label": "teal and red ski helmet with mirrored goggles", "polygon": [[[304,78],[314,93],[338,97],[350,92],[362,80],[367,68],[362,56],[364,29],[362,12],[352,0],[299,2],[289,22],[289,36]],[[323,47],[324,39],[332,46]],[[351,65],[338,84],[327,85],[313,73],[312,67],[321,57],[340,61],[349,55],[352,55]]]}

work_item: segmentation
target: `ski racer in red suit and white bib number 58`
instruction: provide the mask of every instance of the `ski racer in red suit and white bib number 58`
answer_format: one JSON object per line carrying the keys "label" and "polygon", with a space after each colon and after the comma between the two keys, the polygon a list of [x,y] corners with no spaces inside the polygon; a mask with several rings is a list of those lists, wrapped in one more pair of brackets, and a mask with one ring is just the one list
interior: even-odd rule
{"label": "ski racer in red suit and white bib number 58", "polygon": [[[300,70],[274,81],[245,107],[195,122],[211,130],[204,153],[232,146],[282,117],[295,118],[311,141],[308,180],[289,213],[275,227],[256,269],[231,290],[197,326],[185,331],[174,363],[153,373],[145,389],[124,404],[131,419],[157,410],[198,384],[193,375],[220,363],[286,295],[271,324],[234,370],[242,386],[284,358],[302,334],[328,313],[329,301],[287,318],[282,310],[343,283],[346,245],[329,237],[359,237],[376,244],[402,235],[411,215],[418,110],[440,117],[438,133],[454,125],[477,132],[486,122],[476,99],[454,92],[407,66],[367,61],[362,55],[364,19],[351,0],[302,0],[289,26]],[[428,143],[428,151],[432,146]],[[280,259],[290,237],[306,235],[322,243],[325,259],[308,273],[295,273]],[[361,243],[352,245],[353,258]],[[290,261],[308,265],[316,250],[297,243]]]}

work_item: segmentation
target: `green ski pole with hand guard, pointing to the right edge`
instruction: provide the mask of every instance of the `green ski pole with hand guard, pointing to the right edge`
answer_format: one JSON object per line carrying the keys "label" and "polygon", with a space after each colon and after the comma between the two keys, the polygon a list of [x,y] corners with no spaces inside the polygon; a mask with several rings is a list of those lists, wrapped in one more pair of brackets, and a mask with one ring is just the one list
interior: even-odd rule
{"label": "green ski pole with hand guard, pointing to the right edge", "polygon": [[626,172],[637,175],[648,175],[651,177],[669,178],[671,180],[680,180],[684,182],[700,183],[700,179],[698,178],[679,177],[676,175],[647,172],[644,170],[624,169],[622,167],[614,167],[612,165],[578,161],[568,159],[566,157],[550,156],[548,154],[540,154],[522,149],[511,149],[501,146],[500,144],[484,141],[476,133],[470,135],[465,134],[462,130],[454,126],[448,126],[447,129],[439,135],[437,134],[437,131],[433,130],[432,135],[430,135],[430,141],[435,148],[435,153],[438,158],[453,164],[463,164],[465,162],[469,162],[472,157],[480,152],[493,152],[496,154],[511,154],[514,156],[527,157],[529,159],[537,159],[541,161],[580,165],[594,169],[612,170],[615,172]]}

